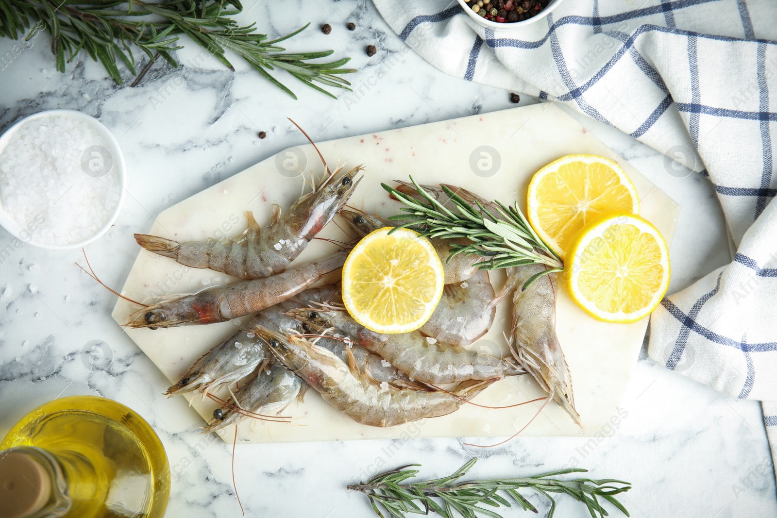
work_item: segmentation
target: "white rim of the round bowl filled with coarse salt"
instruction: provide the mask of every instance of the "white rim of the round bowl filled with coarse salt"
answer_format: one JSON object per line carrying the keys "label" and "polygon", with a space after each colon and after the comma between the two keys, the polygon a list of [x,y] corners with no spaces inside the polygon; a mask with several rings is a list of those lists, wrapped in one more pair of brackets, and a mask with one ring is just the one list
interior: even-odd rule
{"label": "white rim of the round bowl filled with coarse salt", "polygon": [[67,249],[79,249],[84,245],[88,245],[92,241],[94,241],[96,238],[99,238],[101,235],[105,234],[106,231],[110,228],[110,226],[113,224],[113,221],[116,221],[117,216],[119,215],[119,211],[121,210],[121,203],[124,202],[124,186],[126,183],[126,176],[127,176],[127,167],[124,165],[124,155],[121,153],[121,148],[119,147],[119,143],[116,141],[116,139],[113,137],[113,134],[110,133],[108,128],[103,126],[102,123],[99,122],[99,120],[96,120],[94,117],[86,115],[85,113],[77,112],[75,110],[48,110],[40,113],[34,113],[33,115],[26,116],[22,120],[19,120],[16,124],[14,124],[12,127],[9,127],[8,130],[5,131],[4,134],[2,134],[2,137],[0,137],[0,155],[5,152],[5,148],[8,147],[9,141],[11,140],[11,137],[14,133],[16,133],[17,130],[19,130],[19,127],[22,126],[24,123],[28,123],[32,120],[38,120],[43,119],[44,117],[48,116],[64,116],[68,117],[71,120],[78,120],[80,122],[86,123],[89,125],[92,130],[96,131],[100,135],[100,137],[103,137],[103,140],[106,142],[106,145],[108,147],[108,151],[110,151],[111,155],[113,155],[111,158],[113,158],[113,167],[112,170],[116,171],[119,175],[119,186],[121,189],[121,192],[119,193],[119,203],[117,203],[116,209],[113,210],[113,214],[110,215],[108,218],[108,221],[106,221],[106,224],[103,225],[99,229],[99,231],[96,232],[95,235],[92,235],[92,237],[84,239],[83,241],[79,242],[72,242],[68,243],[66,245],[57,245],[53,243],[47,243],[47,242],[40,242],[37,238],[30,238],[30,234],[26,231],[26,229],[22,228],[18,222],[16,222],[12,217],[9,216],[7,212],[2,207],[2,199],[0,199],[0,225],[2,225],[5,230],[9,231],[14,237],[19,239],[22,242],[29,243],[30,245],[40,247],[42,249],[52,249],[52,250],[67,250]]}

